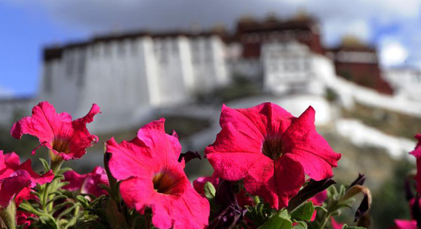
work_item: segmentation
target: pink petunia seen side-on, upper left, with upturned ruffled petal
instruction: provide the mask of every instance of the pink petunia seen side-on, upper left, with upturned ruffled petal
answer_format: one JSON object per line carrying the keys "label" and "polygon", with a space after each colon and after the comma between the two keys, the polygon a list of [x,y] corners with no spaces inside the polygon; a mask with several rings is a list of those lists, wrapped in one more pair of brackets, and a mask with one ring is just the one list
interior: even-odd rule
{"label": "pink petunia seen side-on, upper left, with upturned ruffled petal", "polygon": [[81,119],[72,121],[72,116],[56,113],[53,105],[47,101],[35,105],[31,117],[24,117],[15,123],[10,135],[20,139],[29,134],[40,139],[40,146],[47,147],[50,152],[63,160],[79,159],[86,153],[86,148],[98,141],[98,137],[90,135],[86,124],[93,121],[95,114],[100,113],[100,107],[92,105],[88,114]]}

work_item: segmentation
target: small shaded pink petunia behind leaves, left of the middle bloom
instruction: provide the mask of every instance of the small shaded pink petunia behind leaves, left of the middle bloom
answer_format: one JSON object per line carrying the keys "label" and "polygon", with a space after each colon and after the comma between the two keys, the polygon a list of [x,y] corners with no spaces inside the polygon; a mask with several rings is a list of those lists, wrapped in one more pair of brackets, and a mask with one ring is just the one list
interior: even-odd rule
{"label": "small shaded pink petunia behind leaves, left of the middle bloom", "polygon": [[94,196],[108,194],[108,192],[99,186],[109,185],[108,177],[102,167],[95,167],[93,171],[86,174],[79,174],[72,170],[67,171],[64,173],[64,178],[64,180],[70,182],[70,184],[65,185],[63,189],[67,189],[71,192],[80,191],[81,194],[93,194]]}

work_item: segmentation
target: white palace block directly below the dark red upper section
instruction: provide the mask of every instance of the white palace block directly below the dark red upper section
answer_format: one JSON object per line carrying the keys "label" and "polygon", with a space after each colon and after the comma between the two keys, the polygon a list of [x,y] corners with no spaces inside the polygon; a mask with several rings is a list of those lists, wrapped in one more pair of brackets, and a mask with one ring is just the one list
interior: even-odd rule
{"label": "white palace block directly below the dark red upper section", "polygon": [[332,62],[296,41],[265,43],[261,60],[264,90],[274,94],[324,95],[326,80],[335,78]]}

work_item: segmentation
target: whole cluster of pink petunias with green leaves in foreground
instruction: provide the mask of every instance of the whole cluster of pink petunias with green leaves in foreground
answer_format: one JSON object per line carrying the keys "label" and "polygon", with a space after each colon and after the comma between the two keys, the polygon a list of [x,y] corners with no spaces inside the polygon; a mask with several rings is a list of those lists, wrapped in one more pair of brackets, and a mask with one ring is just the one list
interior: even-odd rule
{"label": "whole cluster of pink petunias with green leaves in foreground", "polygon": [[165,132],[163,118],[139,128],[129,141],[108,139],[104,167],[85,174],[61,168],[98,142],[86,124],[99,113],[93,104],[72,121],[42,102],[13,125],[10,134],[17,139],[38,137],[33,153],[45,146],[50,162],[42,159],[44,171],[35,173],[31,160],[21,164],[15,153],[0,151],[3,228],[337,229],[347,226],[333,217],[359,193],[364,198],[356,221],[364,226],[371,205],[365,178],[339,191],[333,186],[332,169],[341,155],[317,133],[312,107],[294,117],[273,103],[223,105],[221,132],[204,149],[214,173],[193,185],[184,167],[201,156],[182,153],[177,133]]}

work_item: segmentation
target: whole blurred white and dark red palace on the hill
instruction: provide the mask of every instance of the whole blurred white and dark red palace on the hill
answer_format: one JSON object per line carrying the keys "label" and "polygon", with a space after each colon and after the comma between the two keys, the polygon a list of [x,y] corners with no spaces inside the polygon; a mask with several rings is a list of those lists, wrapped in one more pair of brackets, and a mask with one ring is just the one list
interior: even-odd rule
{"label": "whole blurred white and dark red palace on the hill", "polygon": [[[234,33],[138,32],[50,46],[44,50],[38,94],[1,100],[0,124],[46,100],[75,118],[97,103],[102,114],[91,128],[128,128],[154,108],[189,103],[198,93],[228,85],[234,74],[261,80],[263,90],[278,95],[322,96],[337,74],[392,94],[379,76],[375,50],[352,49],[349,53],[367,53],[374,60],[346,62],[335,56],[348,49],[325,49],[320,40],[314,19],[270,17],[241,19]],[[360,71],[370,71],[372,78],[358,78]]]}

